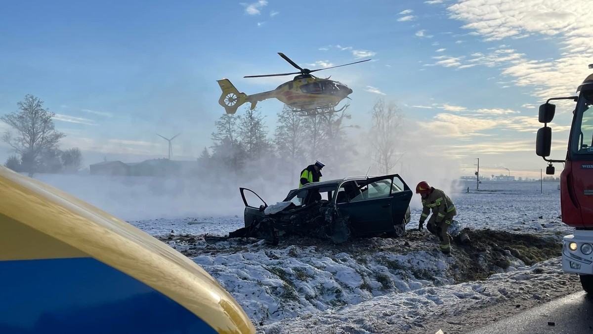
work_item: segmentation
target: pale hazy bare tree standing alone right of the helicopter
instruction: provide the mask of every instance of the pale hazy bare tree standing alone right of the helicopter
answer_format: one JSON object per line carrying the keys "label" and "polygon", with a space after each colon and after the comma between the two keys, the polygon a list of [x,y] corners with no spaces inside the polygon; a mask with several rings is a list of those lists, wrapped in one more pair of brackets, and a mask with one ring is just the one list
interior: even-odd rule
{"label": "pale hazy bare tree standing alone right of the helicopter", "polygon": [[379,98],[371,110],[371,117],[369,143],[373,149],[372,157],[382,173],[389,174],[403,156],[397,149],[403,116],[396,104],[386,105],[385,101]]}

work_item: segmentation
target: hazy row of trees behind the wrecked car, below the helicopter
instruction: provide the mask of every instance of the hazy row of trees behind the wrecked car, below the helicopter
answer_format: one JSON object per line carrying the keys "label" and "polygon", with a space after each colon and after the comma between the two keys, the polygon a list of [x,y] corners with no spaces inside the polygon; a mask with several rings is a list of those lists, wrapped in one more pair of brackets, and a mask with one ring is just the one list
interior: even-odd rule
{"label": "hazy row of trees behind the wrecked car, below the helicopter", "polygon": [[[323,161],[336,173],[345,173],[355,160],[377,166],[381,173],[393,173],[403,152],[399,144],[403,117],[393,103],[381,98],[372,108],[367,133],[347,132],[352,115],[347,106],[337,113],[303,116],[290,106],[277,114],[272,135],[259,109],[246,108],[238,114],[223,114],[215,122],[213,145],[205,147],[199,160],[203,166],[234,175],[266,174],[295,183],[302,168]],[[354,134],[353,138],[349,135]]]}

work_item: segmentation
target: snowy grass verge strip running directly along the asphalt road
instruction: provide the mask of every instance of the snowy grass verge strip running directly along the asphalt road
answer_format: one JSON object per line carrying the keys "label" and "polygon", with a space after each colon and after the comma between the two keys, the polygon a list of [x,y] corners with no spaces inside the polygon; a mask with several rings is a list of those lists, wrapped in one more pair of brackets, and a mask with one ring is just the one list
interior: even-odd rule
{"label": "snowy grass verge strip running directly along the asphalt road", "polygon": [[[451,331],[445,333],[460,333],[464,323],[484,325],[486,322],[480,322],[480,315],[489,321],[484,312],[487,306],[512,301],[513,308],[524,310],[529,301],[549,301],[552,295],[559,297],[560,291],[569,294],[574,285],[570,281],[575,279],[564,275],[560,267],[559,259],[551,259],[498,273],[482,282],[391,293],[323,313],[306,314],[296,320],[282,320],[261,329],[266,333],[435,333],[448,326],[452,327]],[[471,310],[481,314],[470,316]],[[466,315],[461,317],[463,323],[451,321],[458,314]],[[434,325],[427,321],[435,318],[438,320]]]}

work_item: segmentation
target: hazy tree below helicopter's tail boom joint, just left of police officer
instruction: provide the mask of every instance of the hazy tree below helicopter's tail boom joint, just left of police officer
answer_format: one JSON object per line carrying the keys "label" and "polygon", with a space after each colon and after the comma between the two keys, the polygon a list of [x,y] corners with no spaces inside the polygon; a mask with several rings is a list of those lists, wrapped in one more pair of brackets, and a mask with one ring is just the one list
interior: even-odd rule
{"label": "hazy tree below helicopter's tail boom joint, just left of police officer", "polygon": [[305,119],[290,106],[284,106],[278,113],[278,125],[274,136],[276,151],[280,158],[289,164],[291,184],[297,175],[297,164],[304,160],[305,147],[308,144],[304,131]]}

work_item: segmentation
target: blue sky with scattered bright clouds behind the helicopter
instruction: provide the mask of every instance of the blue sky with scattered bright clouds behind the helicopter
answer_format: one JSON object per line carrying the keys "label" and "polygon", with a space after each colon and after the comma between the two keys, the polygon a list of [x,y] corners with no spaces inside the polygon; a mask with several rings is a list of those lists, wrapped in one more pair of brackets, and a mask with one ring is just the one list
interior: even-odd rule
{"label": "blue sky with scattered bright clouds behind the helicopter", "polygon": [[[593,13],[586,0],[499,2],[5,1],[0,114],[40,97],[86,164],[164,157],[155,133],[182,132],[174,158],[195,159],[224,113],[216,79],[253,94],[292,78],[243,78],[294,71],[277,52],[312,69],[372,58],[317,73],[353,89],[353,123],[366,125],[382,97],[401,107],[407,131],[438,138],[425,149],[461,166],[479,157],[503,173],[538,170],[537,106],[588,74],[593,24],[583,11]],[[258,106],[273,132],[282,104]],[[555,158],[570,107],[560,104],[552,125]]]}

